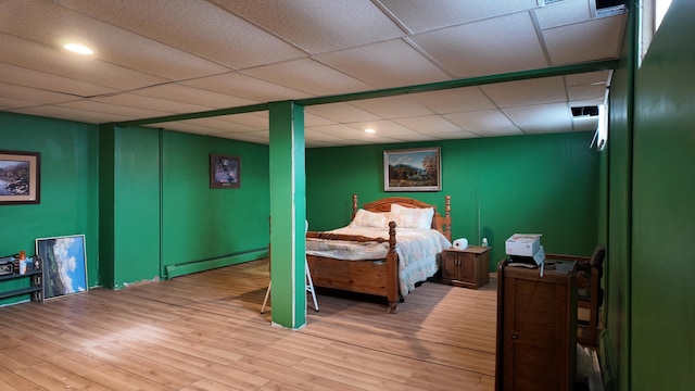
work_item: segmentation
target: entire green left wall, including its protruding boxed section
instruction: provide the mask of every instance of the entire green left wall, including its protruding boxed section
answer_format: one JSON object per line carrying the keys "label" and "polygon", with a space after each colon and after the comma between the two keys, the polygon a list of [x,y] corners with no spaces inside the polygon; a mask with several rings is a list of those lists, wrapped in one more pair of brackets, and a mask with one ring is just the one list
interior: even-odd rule
{"label": "entire green left wall, including its protruding boxed section", "polygon": [[[0,254],[84,234],[89,287],[116,289],[173,265],[181,275],[267,255],[267,146],[0,113],[0,149],[41,152],[41,203],[0,206]],[[240,189],[210,189],[210,153],[241,157]]]}

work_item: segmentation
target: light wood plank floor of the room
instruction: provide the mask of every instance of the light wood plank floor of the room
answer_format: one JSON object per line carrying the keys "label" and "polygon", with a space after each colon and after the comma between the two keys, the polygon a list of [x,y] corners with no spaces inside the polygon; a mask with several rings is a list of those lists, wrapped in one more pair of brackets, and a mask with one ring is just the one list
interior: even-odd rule
{"label": "light wood plank floor of the room", "polygon": [[[0,390],[493,390],[495,280],[261,314],[266,261],[0,308]],[[311,302],[311,300],[309,300]]]}

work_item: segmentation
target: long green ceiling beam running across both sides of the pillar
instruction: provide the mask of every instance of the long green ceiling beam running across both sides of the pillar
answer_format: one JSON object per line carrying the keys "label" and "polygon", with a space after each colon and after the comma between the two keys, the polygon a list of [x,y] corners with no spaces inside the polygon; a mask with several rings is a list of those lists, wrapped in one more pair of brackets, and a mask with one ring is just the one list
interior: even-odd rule
{"label": "long green ceiling beam running across both sides of the pillar", "polygon": [[[504,81],[527,80],[527,79],[533,79],[533,78],[572,75],[572,74],[580,74],[580,73],[586,73],[586,72],[610,71],[617,67],[618,67],[618,60],[604,60],[604,61],[595,61],[595,62],[587,62],[587,63],[581,63],[581,64],[560,65],[560,66],[552,66],[547,68],[509,72],[509,73],[496,74],[496,75],[460,78],[455,80],[446,80],[446,81],[438,81],[438,83],[428,83],[428,84],[421,84],[421,85],[415,85],[415,86],[384,88],[384,89],[372,90],[372,91],[299,99],[299,100],[295,100],[294,102],[303,106],[326,104],[326,103],[350,102],[350,101],[363,100],[363,99],[395,97],[395,96],[401,96],[406,93],[430,92],[430,91],[439,91],[439,90],[445,90],[445,89],[452,89],[452,88],[473,87],[473,86],[482,86],[482,85],[504,83]],[[207,117],[215,117],[215,116],[222,116],[222,115],[253,113],[253,112],[260,112],[260,111],[266,111],[266,110],[268,110],[268,103],[258,103],[258,104],[251,104],[251,105],[239,106],[239,108],[210,110],[210,111],[198,112],[198,113],[174,114],[174,115],[165,115],[165,116],[153,117],[153,118],[124,121],[124,122],[116,123],[115,125],[118,127],[140,126],[140,125],[149,125],[149,124],[176,122],[176,121],[207,118]]]}

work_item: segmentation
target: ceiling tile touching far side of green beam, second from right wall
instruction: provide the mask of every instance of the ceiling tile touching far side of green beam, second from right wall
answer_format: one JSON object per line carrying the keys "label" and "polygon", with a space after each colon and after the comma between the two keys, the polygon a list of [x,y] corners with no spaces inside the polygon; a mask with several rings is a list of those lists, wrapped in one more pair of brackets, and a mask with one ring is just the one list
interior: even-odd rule
{"label": "ceiling tile touching far side of green beam, second from right wall", "polygon": [[567,101],[561,76],[498,83],[480,87],[498,108]]}

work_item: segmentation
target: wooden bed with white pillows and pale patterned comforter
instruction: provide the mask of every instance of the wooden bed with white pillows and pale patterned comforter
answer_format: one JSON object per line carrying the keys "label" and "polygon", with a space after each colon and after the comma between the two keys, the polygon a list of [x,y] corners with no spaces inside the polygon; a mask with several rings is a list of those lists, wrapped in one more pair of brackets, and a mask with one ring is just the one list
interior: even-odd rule
{"label": "wooden bed with white pillows and pale patterned comforter", "polygon": [[306,234],[314,286],[383,297],[388,312],[395,313],[399,301],[437,274],[441,251],[451,248],[450,195],[444,205],[443,216],[435,206],[404,197],[358,207],[353,194],[350,225]]}

